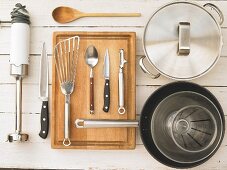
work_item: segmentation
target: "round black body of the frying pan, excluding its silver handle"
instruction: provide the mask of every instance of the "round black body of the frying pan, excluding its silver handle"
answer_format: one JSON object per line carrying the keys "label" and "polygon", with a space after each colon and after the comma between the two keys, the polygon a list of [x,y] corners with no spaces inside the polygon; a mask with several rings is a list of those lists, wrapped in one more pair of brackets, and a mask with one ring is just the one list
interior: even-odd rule
{"label": "round black body of the frying pan, excluding its silver handle", "polygon": [[[167,96],[181,91],[190,91],[190,92],[196,92],[199,93],[205,97],[207,97],[213,104],[217,107],[219,113],[221,114],[221,119],[223,121],[223,133],[221,136],[221,140],[218,143],[218,147],[216,147],[215,151],[209,155],[206,159],[196,162],[196,163],[179,163],[175,162],[173,160],[168,159],[166,156],[164,156],[159,149],[156,147],[151,133],[151,119],[154,113],[155,108],[158,106],[158,104],[165,99]],[[221,105],[219,104],[216,97],[207,89],[189,82],[174,82],[167,85],[164,85],[160,87],[158,90],[156,90],[146,101],[141,117],[140,117],[140,133],[141,133],[141,139],[143,141],[144,146],[146,147],[147,151],[159,162],[170,166],[174,168],[190,168],[197,165],[202,164],[203,162],[207,161],[211,156],[214,155],[214,153],[219,148],[221,141],[223,140],[225,132],[225,119],[224,119],[224,113],[221,108]]]}

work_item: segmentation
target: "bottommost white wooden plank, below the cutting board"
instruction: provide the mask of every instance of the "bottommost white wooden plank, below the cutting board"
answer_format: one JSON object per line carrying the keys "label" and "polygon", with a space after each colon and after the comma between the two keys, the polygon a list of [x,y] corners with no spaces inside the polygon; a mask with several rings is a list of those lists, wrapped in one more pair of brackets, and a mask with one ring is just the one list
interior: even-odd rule
{"label": "bottommost white wooden plank, below the cutting board", "polygon": [[[156,161],[139,145],[135,150],[53,150],[44,143],[0,143],[1,167],[39,169],[86,169],[86,170],[170,170]],[[194,170],[224,170],[227,158],[222,146],[215,156]]]}

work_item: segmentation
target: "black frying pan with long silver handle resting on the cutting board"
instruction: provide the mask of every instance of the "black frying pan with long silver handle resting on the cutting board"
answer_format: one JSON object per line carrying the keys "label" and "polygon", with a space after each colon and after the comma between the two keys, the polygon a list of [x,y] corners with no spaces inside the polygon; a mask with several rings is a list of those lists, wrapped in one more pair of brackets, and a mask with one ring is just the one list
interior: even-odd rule
{"label": "black frying pan with long silver handle resting on the cutting board", "polygon": [[[154,138],[152,137],[152,128],[151,128],[152,118],[154,118],[153,115],[155,113],[156,108],[158,108],[159,104],[163,102],[164,99],[166,99],[167,97],[173,94],[180,93],[180,92],[196,93],[196,94],[199,94],[200,96],[205,97],[206,100],[209,100],[210,103],[214,105],[214,107],[218,111],[219,122],[223,126],[222,133],[220,133],[220,136],[218,138],[219,142],[217,142],[217,145],[215,145],[216,143],[214,144],[215,147],[212,150],[212,152],[209,152],[209,154],[207,154],[209,156],[206,155],[203,159],[199,159],[198,161],[196,160],[193,162],[191,161],[191,162],[185,163],[180,161],[174,161],[174,159],[168,158],[158,149],[157,145],[154,142]],[[186,104],[189,104],[189,103],[186,102]],[[170,107],[172,107],[172,105],[170,105]],[[82,123],[83,125],[80,125],[80,123]],[[121,122],[120,120],[79,120],[78,119],[75,121],[75,124],[77,128],[138,127],[137,121]],[[225,120],[224,120],[224,113],[221,108],[221,105],[219,104],[215,96],[210,91],[194,83],[174,82],[160,87],[147,99],[142,109],[139,128],[140,128],[141,139],[143,141],[144,146],[146,147],[147,151],[156,160],[158,160],[159,162],[167,166],[174,167],[174,168],[190,168],[207,161],[217,151],[224,137]],[[162,137],[162,140],[163,139],[165,138]],[[166,141],[164,140],[164,142]],[[168,145],[168,142],[167,142],[167,145]],[[196,155],[198,154],[196,153]]]}

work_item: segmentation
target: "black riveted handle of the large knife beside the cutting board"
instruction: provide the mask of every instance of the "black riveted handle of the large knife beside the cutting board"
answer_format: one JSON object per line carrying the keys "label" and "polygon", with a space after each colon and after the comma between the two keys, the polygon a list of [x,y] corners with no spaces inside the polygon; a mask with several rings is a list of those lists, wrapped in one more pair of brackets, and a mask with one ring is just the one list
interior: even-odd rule
{"label": "black riveted handle of the large knife beside the cutting board", "polygon": [[48,101],[43,101],[40,122],[41,122],[41,130],[39,132],[39,136],[43,139],[46,139],[49,131]]}

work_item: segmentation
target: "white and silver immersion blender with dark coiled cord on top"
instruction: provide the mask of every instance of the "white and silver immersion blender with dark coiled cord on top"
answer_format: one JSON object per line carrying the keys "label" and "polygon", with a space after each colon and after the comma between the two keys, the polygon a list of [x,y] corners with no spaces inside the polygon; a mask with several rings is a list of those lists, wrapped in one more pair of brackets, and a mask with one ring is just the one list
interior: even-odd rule
{"label": "white and silver immersion blender with dark coiled cord on top", "polygon": [[28,75],[30,19],[26,6],[16,4],[11,12],[10,75],[16,78],[16,125],[8,135],[9,142],[24,142],[28,134],[22,133],[22,78]]}

